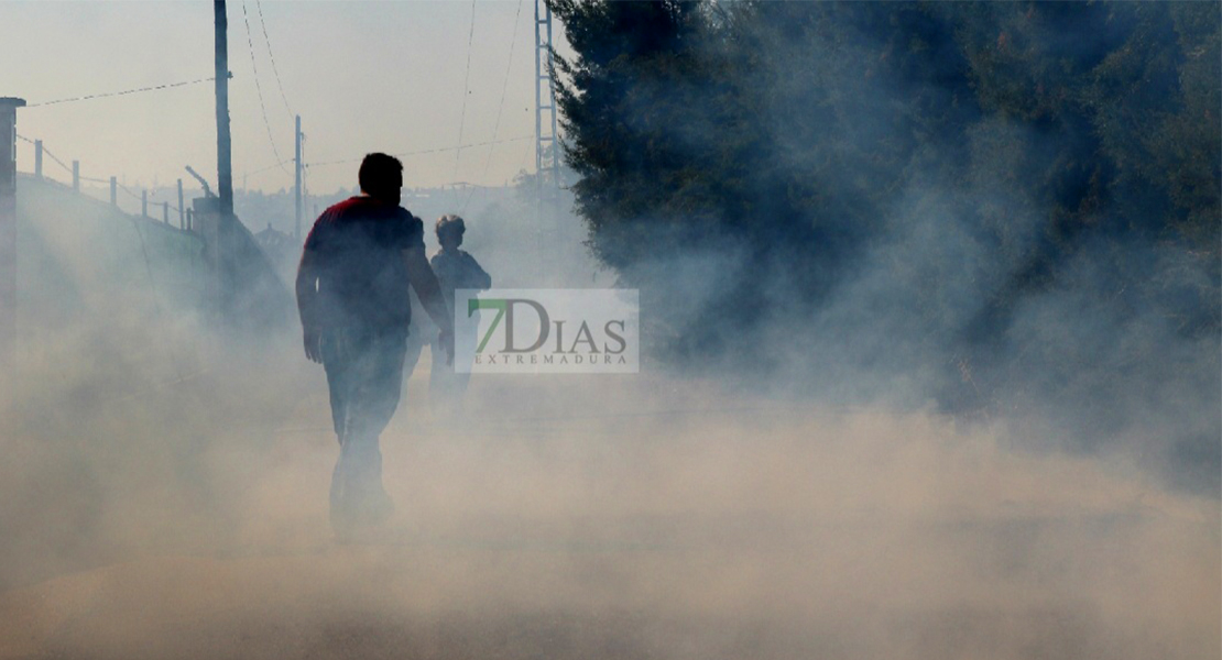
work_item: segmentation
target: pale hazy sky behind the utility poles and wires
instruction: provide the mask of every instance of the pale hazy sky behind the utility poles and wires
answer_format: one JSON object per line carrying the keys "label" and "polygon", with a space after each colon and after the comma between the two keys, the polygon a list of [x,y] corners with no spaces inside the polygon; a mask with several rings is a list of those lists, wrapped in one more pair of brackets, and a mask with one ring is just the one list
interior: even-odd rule
{"label": "pale hazy sky behind the utility poles and wires", "polygon": [[[304,160],[319,163],[309,168],[312,193],[354,185],[356,162],[323,163],[373,150],[442,149],[402,156],[408,185],[501,184],[534,170],[534,0],[263,0],[263,23],[259,10],[255,0],[229,2],[236,188],[243,181],[268,192],[292,187],[291,165],[274,166],[293,156],[292,113],[302,116],[307,134]],[[557,43],[560,33],[557,22]],[[197,81],[213,74],[213,48],[207,0],[0,1],[0,96],[34,105]],[[459,131],[466,145],[525,139],[459,152]],[[210,82],[23,109],[17,132],[43,139],[70,165],[79,160],[84,177],[189,182],[183,166],[191,165],[215,185]],[[21,140],[17,167],[34,167],[33,146]],[[71,181],[50,160],[44,171]]]}

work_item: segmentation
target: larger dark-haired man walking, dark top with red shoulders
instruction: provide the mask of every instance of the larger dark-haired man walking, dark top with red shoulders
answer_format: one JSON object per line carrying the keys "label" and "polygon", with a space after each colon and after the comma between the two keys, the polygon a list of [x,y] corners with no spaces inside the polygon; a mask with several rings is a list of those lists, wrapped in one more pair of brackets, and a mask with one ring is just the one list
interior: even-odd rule
{"label": "larger dark-haired man walking, dark top with red shoulders", "polygon": [[402,163],[369,154],[362,194],[314,222],[297,271],[306,356],[321,362],[340,457],[331,476],[331,525],[347,537],[393,510],[381,481],[379,436],[398,406],[412,306],[408,285],[440,328],[453,360],[450,310],[424,255],[424,224],[400,206]]}

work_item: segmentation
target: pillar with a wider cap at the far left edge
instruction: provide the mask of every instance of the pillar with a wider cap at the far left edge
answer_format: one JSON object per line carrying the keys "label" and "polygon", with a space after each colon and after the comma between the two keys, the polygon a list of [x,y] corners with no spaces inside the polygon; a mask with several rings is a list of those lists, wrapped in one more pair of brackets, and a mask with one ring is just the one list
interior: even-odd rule
{"label": "pillar with a wider cap at the far left edge", "polygon": [[0,98],[0,365],[17,339],[17,109],[24,105]]}

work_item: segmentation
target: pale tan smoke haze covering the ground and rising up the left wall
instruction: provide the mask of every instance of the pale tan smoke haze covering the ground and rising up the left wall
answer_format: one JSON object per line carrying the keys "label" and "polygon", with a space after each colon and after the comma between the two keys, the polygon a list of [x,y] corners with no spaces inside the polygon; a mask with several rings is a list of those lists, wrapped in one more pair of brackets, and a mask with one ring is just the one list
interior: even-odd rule
{"label": "pale tan smoke haze covering the ground and rising up the left wall", "polygon": [[456,425],[425,356],[382,436],[389,531],[336,544],[296,332],[210,329],[139,256],[181,237],[26,189],[23,272],[71,276],[23,281],[2,379],[0,659],[1222,653],[1218,499],[1132,453],[648,361],[477,376]]}

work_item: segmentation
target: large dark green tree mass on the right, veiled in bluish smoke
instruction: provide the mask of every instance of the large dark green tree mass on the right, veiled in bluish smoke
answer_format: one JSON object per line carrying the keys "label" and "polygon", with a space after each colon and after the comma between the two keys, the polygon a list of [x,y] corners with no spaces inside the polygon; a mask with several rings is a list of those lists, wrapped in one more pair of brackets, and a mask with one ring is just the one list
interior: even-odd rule
{"label": "large dark green tree mass on the right, veiled in bluish smoke", "polygon": [[1085,443],[1160,420],[1217,483],[1217,4],[554,7],[577,210],[655,355]]}

